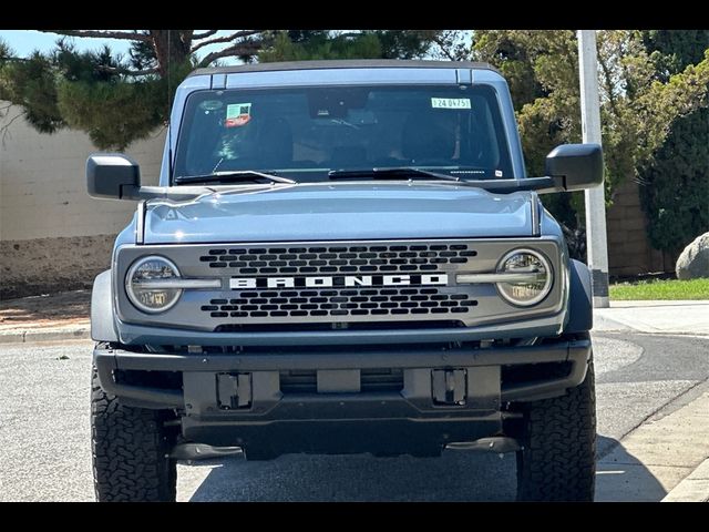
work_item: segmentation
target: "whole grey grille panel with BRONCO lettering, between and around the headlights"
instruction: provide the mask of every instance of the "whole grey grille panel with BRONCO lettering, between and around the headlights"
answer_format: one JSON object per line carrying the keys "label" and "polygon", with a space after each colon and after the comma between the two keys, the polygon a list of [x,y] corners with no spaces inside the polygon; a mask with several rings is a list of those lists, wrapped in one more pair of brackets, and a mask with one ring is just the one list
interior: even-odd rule
{"label": "whole grey grille panel with BRONCO lettering, between and around the headlights", "polygon": [[[124,246],[116,276],[157,254],[185,278],[218,279],[185,289],[177,305],[145,315],[119,290],[123,321],[198,331],[305,330],[305,327],[401,329],[411,324],[465,327],[558,313],[564,283],[531,309],[513,308],[495,286],[459,284],[462,273],[493,272],[512,249],[533,246],[558,265],[553,239],[400,239]],[[564,280],[563,276],[557,276]],[[561,315],[559,315],[561,316]]]}

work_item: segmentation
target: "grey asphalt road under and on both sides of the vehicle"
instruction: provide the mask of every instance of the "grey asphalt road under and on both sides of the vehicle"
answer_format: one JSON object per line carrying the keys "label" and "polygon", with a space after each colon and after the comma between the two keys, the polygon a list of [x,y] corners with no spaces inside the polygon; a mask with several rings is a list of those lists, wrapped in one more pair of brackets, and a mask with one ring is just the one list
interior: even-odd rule
{"label": "grey asphalt road under and on both sides of the vehicle", "polygon": [[[598,451],[709,387],[709,338],[594,335]],[[91,344],[0,346],[0,501],[91,501]],[[690,427],[687,430],[691,430]],[[514,456],[286,456],[181,463],[178,500],[508,501]]]}

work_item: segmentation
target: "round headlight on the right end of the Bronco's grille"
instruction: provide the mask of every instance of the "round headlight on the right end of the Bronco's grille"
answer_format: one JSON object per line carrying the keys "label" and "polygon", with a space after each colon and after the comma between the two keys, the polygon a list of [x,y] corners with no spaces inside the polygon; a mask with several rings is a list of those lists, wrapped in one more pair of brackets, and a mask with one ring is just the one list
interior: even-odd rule
{"label": "round headlight on the right end of the Bronco's grille", "polygon": [[513,305],[536,305],[552,289],[552,267],[544,255],[532,249],[510,252],[500,260],[497,273],[521,274],[521,280],[497,283],[502,297]]}

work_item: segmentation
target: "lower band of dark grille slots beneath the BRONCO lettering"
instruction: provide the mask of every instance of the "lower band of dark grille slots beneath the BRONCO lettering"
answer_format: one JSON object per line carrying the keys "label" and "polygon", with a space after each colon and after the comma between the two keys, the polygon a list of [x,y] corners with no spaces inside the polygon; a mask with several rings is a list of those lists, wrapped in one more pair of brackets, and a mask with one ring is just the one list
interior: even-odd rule
{"label": "lower band of dark grille slots beneath the BRONCO lettering", "polygon": [[462,314],[477,305],[467,294],[442,294],[439,288],[243,290],[235,295],[210,299],[201,309],[213,318],[420,316]]}

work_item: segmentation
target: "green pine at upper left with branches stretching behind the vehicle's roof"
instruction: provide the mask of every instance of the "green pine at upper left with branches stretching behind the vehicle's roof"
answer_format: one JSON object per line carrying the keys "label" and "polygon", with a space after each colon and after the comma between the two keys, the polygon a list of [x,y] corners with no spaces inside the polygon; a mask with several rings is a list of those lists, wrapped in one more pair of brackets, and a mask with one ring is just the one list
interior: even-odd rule
{"label": "green pine at upper left with branches stretching behind the vehicle's roof", "polygon": [[[123,150],[169,117],[175,88],[189,71],[223,58],[243,62],[461,54],[460,33],[440,30],[58,30],[50,53],[12,58],[0,44],[0,100],[21,105],[42,133],[86,132],[100,149]],[[66,38],[127,40],[127,57],[104,48],[78,52]],[[220,47],[201,59],[205,47]],[[199,52],[199,53],[197,53]]]}

